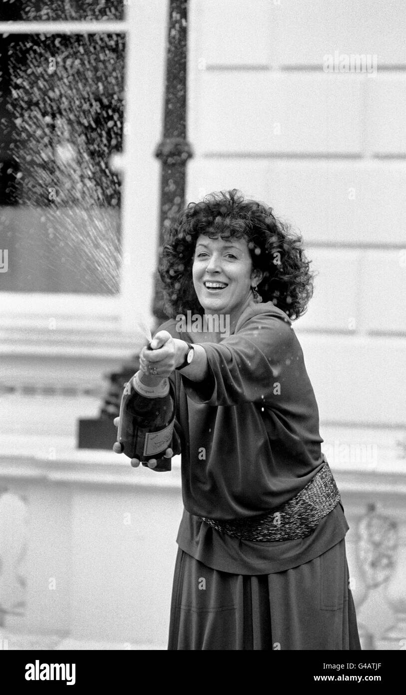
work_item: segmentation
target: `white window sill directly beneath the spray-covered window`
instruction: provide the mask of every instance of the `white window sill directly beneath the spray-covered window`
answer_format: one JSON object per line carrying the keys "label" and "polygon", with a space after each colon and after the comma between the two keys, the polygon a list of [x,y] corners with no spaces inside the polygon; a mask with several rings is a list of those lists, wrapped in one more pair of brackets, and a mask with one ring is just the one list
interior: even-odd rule
{"label": "white window sill directly beneath the spray-covered window", "polygon": [[135,306],[137,328],[124,320],[124,298],[83,293],[2,292],[0,354],[126,359],[145,342],[153,317]]}

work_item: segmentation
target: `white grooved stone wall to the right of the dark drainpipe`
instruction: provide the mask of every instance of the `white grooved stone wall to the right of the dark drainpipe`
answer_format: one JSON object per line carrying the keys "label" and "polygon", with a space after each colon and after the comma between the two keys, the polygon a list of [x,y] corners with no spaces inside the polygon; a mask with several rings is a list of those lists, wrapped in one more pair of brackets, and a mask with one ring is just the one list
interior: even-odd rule
{"label": "white grooved stone wall to the right of the dark drainpipe", "polygon": [[[240,188],[302,232],[321,424],[404,426],[404,3],[192,0],[189,19],[187,199]],[[324,72],[335,51],[377,70]]]}

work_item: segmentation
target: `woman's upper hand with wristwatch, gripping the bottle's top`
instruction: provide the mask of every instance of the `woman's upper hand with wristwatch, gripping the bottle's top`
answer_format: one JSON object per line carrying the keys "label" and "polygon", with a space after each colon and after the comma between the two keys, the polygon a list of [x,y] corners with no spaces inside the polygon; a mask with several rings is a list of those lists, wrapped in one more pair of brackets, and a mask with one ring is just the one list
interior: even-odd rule
{"label": "woman's upper hand with wristwatch, gripping the bottle's top", "polygon": [[164,379],[185,359],[187,343],[172,338],[167,331],[157,333],[150,345],[150,349],[143,347],[139,354],[139,369],[145,374]]}

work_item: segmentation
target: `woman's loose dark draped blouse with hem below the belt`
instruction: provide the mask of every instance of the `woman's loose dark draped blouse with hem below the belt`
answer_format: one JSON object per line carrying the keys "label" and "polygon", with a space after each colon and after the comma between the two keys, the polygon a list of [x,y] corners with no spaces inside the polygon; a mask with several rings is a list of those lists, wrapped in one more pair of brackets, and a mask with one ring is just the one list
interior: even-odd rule
{"label": "woman's loose dark draped blouse with hem below the belt", "polygon": [[[159,330],[199,342],[176,325],[172,319]],[[232,335],[200,344],[208,377],[192,382],[178,371],[170,377],[185,506],[180,548],[214,569],[242,574],[283,571],[314,559],[346,534],[341,505],[310,537],[296,541],[239,541],[198,518],[271,511],[323,466],[319,411],[291,320],[272,302],[255,304],[242,313]]]}

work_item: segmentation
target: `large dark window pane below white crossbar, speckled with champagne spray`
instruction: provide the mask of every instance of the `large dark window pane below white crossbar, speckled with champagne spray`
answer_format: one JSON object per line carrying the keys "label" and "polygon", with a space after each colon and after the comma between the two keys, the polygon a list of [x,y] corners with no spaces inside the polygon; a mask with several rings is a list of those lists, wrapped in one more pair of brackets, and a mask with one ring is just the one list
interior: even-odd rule
{"label": "large dark window pane below white crossbar, speckled with champagne spray", "polygon": [[119,291],[124,35],[3,38],[0,291]]}

